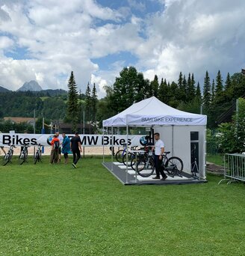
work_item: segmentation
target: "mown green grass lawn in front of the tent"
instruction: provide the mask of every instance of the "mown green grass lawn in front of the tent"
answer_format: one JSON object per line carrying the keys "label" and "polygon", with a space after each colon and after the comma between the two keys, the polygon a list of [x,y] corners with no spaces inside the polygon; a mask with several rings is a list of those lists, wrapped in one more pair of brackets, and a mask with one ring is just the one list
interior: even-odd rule
{"label": "mown green grass lawn in front of the tent", "polygon": [[0,166],[0,255],[244,255],[244,183],[123,186],[78,168]]}

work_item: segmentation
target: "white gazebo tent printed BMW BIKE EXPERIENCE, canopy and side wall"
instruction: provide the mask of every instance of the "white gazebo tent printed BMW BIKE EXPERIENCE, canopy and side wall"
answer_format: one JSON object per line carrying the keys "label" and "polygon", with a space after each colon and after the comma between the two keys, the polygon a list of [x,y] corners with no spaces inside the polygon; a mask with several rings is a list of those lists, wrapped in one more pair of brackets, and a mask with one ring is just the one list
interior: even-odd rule
{"label": "white gazebo tent printed BMW BIKE EXPERIENCE, canopy and side wall", "polygon": [[[190,132],[198,132],[199,178],[205,179],[205,133],[207,116],[183,112],[150,97],[134,103],[128,109],[103,121],[103,128],[154,127],[161,134],[165,150],[179,156],[184,162],[184,171],[190,173]],[[113,132],[112,132],[113,133]],[[113,146],[113,145],[112,145]],[[128,167],[127,167],[128,170]]]}

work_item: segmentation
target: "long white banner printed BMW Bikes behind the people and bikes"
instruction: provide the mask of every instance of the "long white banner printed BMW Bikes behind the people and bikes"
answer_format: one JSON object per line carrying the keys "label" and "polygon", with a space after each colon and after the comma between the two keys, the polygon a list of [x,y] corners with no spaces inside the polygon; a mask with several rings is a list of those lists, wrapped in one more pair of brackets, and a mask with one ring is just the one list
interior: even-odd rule
{"label": "long white banner printed BMW Bikes behind the people and bikes", "polygon": [[[61,136],[61,135],[60,135]],[[72,138],[74,135],[67,135]],[[139,146],[140,141],[143,140],[145,135],[128,135],[129,146]],[[52,141],[53,135],[49,134],[26,134],[26,133],[0,133],[0,146],[7,146],[13,144],[15,146],[23,146],[28,144],[30,146],[36,146],[42,144],[43,146],[49,146]],[[123,144],[127,141],[126,135],[80,135],[81,145],[84,147],[101,147],[105,146],[123,147]]]}

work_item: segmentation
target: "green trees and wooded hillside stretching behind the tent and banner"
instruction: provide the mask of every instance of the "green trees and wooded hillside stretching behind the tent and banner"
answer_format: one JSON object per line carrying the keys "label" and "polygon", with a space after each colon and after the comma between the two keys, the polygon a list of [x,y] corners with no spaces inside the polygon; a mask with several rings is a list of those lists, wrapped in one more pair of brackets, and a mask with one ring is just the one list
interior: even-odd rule
{"label": "green trees and wooded hillside stretching behind the tent and banner", "polygon": [[[85,119],[86,123],[99,128],[106,118],[122,112],[133,103],[155,96],[173,108],[208,115],[208,128],[214,129],[224,121],[232,121],[235,100],[244,97],[245,76],[227,73],[223,79],[218,71],[211,81],[206,71],[201,91],[193,73],[180,72],[176,82],[167,82],[164,78],[159,80],[158,76],[149,81],[135,67],[124,67],[114,84],[105,86],[106,95],[100,100],[95,84],[88,83],[86,91],[78,91],[73,72],[67,86],[68,93],[60,91],[52,95],[51,91],[0,93],[0,118],[33,117],[35,109],[36,118],[40,119],[37,124],[40,125],[44,117],[47,123],[57,120],[71,123],[75,130],[77,124]],[[226,112],[228,114],[224,115]]]}

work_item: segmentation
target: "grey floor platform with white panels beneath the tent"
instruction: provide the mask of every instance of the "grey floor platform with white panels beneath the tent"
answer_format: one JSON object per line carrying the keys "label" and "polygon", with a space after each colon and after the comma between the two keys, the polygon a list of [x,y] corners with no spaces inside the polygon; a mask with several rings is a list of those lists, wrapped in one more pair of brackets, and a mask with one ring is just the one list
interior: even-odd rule
{"label": "grey floor platform with white panels beneath the tent", "polygon": [[182,177],[175,176],[170,177],[167,173],[167,180],[154,180],[155,174],[150,177],[141,177],[136,175],[135,171],[128,167],[128,181],[126,180],[126,166],[119,162],[102,162],[102,165],[108,169],[121,183],[124,185],[182,185],[182,184],[194,184],[194,183],[206,183],[207,180],[199,180],[190,174],[182,172]]}

